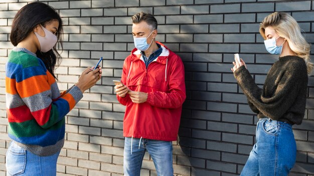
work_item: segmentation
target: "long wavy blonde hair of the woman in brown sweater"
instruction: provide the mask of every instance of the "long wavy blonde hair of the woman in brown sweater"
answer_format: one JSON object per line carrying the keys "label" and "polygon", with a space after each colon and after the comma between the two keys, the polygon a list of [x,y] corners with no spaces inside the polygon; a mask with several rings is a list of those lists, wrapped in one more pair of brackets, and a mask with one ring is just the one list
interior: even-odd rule
{"label": "long wavy blonde hair of the woman in brown sweater", "polygon": [[313,69],[313,63],[310,62],[310,44],[301,34],[301,29],[296,20],[286,12],[273,12],[266,16],[259,25],[259,33],[264,39],[265,28],[271,26],[276,33],[285,38],[291,50],[299,57],[303,58],[307,66],[307,74]]}

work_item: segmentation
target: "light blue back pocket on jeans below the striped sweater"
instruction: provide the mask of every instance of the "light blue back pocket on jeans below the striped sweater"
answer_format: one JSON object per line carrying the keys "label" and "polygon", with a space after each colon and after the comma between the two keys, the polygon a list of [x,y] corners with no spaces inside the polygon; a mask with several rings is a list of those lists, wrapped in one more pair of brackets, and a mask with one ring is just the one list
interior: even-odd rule
{"label": "light blue back pocket on jeans below the striped sweater", "polygon": [[24,173],[26,165],[26,151],[14,142],[11,142],[7,151],[6,166],[10,175],[20,175]]}

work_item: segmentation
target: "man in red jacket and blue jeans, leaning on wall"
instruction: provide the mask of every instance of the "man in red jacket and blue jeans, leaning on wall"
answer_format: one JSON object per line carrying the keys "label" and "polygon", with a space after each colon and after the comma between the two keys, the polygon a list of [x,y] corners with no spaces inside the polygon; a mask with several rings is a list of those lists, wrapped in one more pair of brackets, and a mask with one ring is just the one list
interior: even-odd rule
{"label": "man in red jacket and blue jeans, leaning on wall", "polygon": [[124,175],[139,175],[145,151],[158,175],[173,175],[172,141],[177,140],[186,98],[181,58],[155,41],[157,20],[140,12],[132,16],[135,48],[123,63],[118,101],[126,105],[123,120]]}

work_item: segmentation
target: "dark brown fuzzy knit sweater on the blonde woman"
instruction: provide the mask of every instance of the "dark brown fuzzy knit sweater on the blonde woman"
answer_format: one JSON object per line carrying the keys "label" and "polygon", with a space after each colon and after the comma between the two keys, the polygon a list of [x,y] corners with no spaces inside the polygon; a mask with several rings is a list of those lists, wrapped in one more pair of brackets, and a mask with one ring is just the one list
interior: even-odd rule
{"label": "dark brown fuzzy knit sweater on the blonde woman", "polygon": [[263,88],[259,88],[245,66],[235,70],[249,106],[258,118],[301,124],[306,103],[307,71],[301,57],[279,57],[270,68]]}

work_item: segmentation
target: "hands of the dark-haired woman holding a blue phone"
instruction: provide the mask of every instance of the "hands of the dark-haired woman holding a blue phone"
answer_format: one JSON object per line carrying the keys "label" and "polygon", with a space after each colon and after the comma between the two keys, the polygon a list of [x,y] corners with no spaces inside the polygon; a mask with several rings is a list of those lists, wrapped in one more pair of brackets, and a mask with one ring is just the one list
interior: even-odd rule
{"label": "hands of the dark-haired woman holding a blue phone", "polygon": [[101,73],[102,73],[101,67],[98,66],[98,68],[96,68],[95,70],[93,69],[94,67],[86,68],[82,72],[79,80],[76,83],[76,86],[80,88],[82,93],[84,93],[85,90],[95,85],[96,82],[101,78]]}

